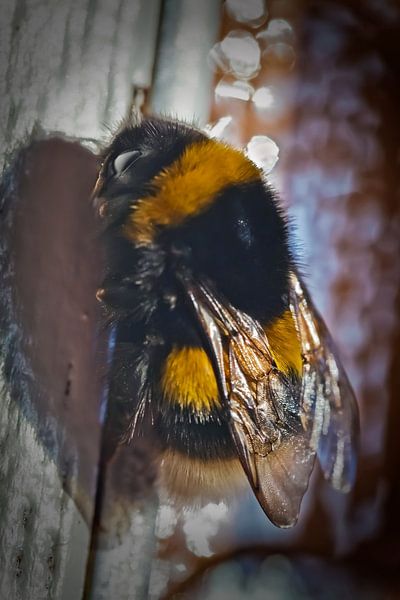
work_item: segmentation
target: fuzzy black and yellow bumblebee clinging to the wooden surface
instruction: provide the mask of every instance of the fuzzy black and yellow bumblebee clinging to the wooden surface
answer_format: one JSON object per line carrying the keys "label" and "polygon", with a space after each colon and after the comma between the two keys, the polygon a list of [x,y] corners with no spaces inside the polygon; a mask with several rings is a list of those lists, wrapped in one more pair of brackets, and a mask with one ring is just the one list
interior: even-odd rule
{"label": "fuzzy black and yellow bumblebee clinging to the wooden surface", "polygon": [[150,420],[178,497],[219,493],[244,470],[279,527],[296,523],[316,456],[348,491],[356,401],[260,169],[185,123],[132,120],[105,148],[93,197],[121,438]]}

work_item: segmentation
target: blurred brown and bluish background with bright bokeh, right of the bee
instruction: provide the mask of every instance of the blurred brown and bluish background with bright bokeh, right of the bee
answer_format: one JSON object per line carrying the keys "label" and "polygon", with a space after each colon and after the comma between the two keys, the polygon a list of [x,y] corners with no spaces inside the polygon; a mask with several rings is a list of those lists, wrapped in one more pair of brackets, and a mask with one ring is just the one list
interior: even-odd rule
{"label": "blurred brown and bluish background with bright bokeh, right of the bee", "polygon": [[204,507],[197,527],[193,515],[178,519],[179,534],[162,527],[173,510],[162,507],[164,556],[175,552],[182,574],[188,562],[196,570],[193,554],[202,572],[214,565],[191,579],[203,581],[201,598],[398,597],[400,7],[226,0],[222,9],[207,57],[208,130],[247,148],[293,219],[309,290],[359,401],[359,470],[347,497],[314,473],[289,531],[251,497]]}

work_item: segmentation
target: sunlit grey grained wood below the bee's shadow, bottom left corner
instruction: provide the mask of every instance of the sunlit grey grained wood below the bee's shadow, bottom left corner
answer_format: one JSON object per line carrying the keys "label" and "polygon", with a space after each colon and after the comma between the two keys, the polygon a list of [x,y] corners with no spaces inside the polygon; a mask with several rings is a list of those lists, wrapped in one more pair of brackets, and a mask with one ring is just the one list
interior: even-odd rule
{"label": "sunlit grey grained wood below the bee's shadow, bottom left corner", "polygon": [[0,597],[80,598],[90,530],[19,406],[1,415]]}

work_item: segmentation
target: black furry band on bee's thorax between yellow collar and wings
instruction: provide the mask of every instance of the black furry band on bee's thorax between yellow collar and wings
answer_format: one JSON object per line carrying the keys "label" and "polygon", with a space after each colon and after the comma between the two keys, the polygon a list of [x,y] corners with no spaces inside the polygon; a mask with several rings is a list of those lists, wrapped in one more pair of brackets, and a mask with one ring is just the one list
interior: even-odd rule
{"label": "black furry band on bee's thorax between yellow collar and wings", "polygon": [[160,234],[186,250],[195,278],[211,280],[236,308],[266,324],[287,308],[291,257],[285,221],[261,181],[224,190],[204,213]]}

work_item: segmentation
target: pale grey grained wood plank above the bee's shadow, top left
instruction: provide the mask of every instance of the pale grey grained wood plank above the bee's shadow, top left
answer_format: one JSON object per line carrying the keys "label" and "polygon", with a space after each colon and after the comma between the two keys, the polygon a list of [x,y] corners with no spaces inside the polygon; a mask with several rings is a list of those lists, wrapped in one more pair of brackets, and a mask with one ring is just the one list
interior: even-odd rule
{"label": "pale grey grained wood plank above the bee's shadow, top left", "polygon": [[47,131],[98,139],[105,126],[124,117],[132,85],[151,83],[160,5],[160,0],[3,2],[3,148],[14,147],[36,122]]}

